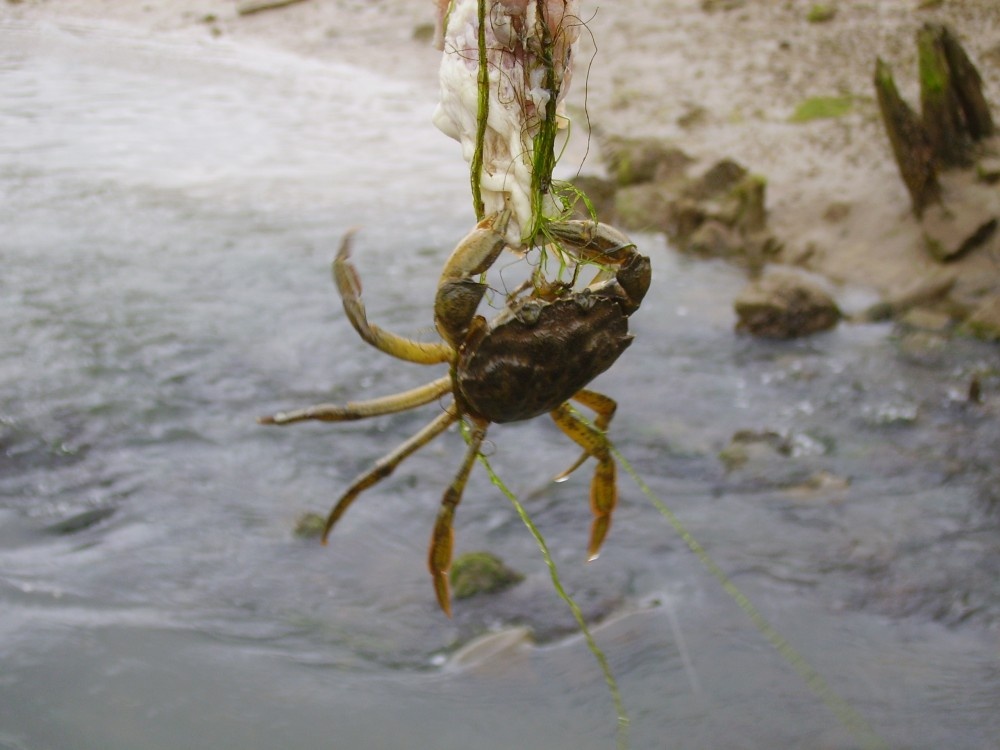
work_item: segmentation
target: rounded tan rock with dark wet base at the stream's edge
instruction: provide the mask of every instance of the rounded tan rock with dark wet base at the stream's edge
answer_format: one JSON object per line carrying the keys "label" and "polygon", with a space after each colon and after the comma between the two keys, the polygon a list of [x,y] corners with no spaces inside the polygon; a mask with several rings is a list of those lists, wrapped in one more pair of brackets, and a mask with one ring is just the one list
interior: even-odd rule
{"label": "rounded tan rock with dark wet base at the stream's edge", "polygon": [[753,336],[790,339],[837,325],[840,308],[818,283],[792,270],[773,270],[737,296],[736,330]]}

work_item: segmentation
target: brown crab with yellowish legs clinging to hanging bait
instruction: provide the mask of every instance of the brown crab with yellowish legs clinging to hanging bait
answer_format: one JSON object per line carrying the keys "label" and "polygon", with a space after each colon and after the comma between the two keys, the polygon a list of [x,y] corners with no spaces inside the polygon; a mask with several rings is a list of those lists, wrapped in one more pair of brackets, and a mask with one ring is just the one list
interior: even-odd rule
{"label": "brown crab with yellowish legs clinging to hanging bait", "polygon": [[[449,373],[425,385],[381,398],[343,405],[319,404],[262,417],[263,424],[288,425],[306,420],[341,422],[407,411],[451,394],[440,413],[419,432],[386,454],[344,491],[323,530],[326,544],[344,512],[366,489],[388,477],[408,456],[456,422],[467,426],[468,448],[441,507],[431,534],[428,567],[438,604],[451,616],[448,572],[454,546],[453,519],[462,499],[487,428],[548,413],[583,452],[555,479],[562,481],[588,458],[597,460],[590,486],[593,521],[588,559],[597,557],[617,503],[615,461],[605,431],[617,404],[586,388],[621,356],[632,342],[628,318],[649,288],[649,259],[620,231],[596,221],[554,221],[547,226],[550,247],[564,260],[600,267],[589,286],[533,282],[511,294],[491,322],[477,314],[487,285],[475,277],[497,260],[506,246],[509,209],[487,217],[455,248],[445,263],[434,303],[441,341],[418,342],[370,323],[361,301],[361,280],[351,262],[351,233],[333,263],[333,276],[348,320],[361,338],[398,359],[449,365]],[[574,273],[575,277],[575,273]],[[576,401],[595,414],[583,419]]]}

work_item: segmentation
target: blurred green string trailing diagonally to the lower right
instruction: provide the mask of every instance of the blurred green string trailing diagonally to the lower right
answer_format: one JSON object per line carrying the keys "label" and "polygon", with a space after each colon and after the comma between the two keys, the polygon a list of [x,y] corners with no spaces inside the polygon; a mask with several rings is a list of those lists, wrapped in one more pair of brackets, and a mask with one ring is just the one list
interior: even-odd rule
{"label": "blurred green string trailing diagonally to the lower right", "polygon": [[757,609],[753,603],[746,597],[746,595],[740,591],[736,584],[725,574],[725,572],[718,566],[718,564],[713,560],[704,547],[695,539],[691,532],[687,530],[684,524],[681,523],[680,519],[674,515],[673,511],[667,507],[653,490],[650,488],[646,482],[642,480],[636,470],[632,465],[625,460],[624,456],[619,452],[619,450],[609,442],[611,447],[611,452],[614,454],[618,463],[621,464],[622,468],[628,472],[628,475],[632,477],[635,483],[639,486],[642,494],[653,504],[653,506],[660,511],[660,514],[667,519],[667,522],[673,527],[677,535],[687,544],[688,548],[694,552],[695,557],[698,561],[711,573],[715,579],[719,582],[722,588],[725,590],[733,601],[739,605],[739,608],[743,610],[744,614],[750,618],[750,621],[757,628],[758,632],[768,643],[774,647],[774,649],[781,654],[781,656],[787,661],[791,667],[799,674],[799,676],[805,681],[806,686],[816,695],[820,700],[826,704],[827,708],[833,712],[834,716],[837,717],[838,721],[844,725],[844,727],[854,736],[854,738],[861,744],[865,750],[889,750],[889,746],[886,744],[871,725],[865,720],[865,718],[859,714],[846,700],[844,700],[823,678],[823,676],[816,671],[816,669],[806,660],[806,658],[800,654],[791,643],[789,643],[781,633],[779,633],[770,622],[761,614],[760,610]]}

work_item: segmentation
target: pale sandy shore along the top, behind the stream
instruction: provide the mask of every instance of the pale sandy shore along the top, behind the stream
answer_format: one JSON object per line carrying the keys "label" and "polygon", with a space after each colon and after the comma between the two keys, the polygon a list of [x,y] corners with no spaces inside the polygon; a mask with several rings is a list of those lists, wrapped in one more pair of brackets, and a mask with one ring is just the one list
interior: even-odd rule
{"label": "pale sandy shore along the top, behind the stream", "polygon": [[[584,123],[586,108],[607,133],[669,138],[706,161],[736,159],[767,178],[769,221],[785,243],[784,260],[892,294],[938,264],[924,249],[878,118],[875,58],[893,67],[901,93],[916,106],[916,30],[927,21],[947,23],[978,65],[1000,119],[1000,3],[945,0],[921,9],[935,4],[834,2],[832,19],[811,23],[815,4],[584,0],[589,33],[579,48],[570,111]],[[726,5],[737,7],[707,9]],[[251,15],[240,15],[233,0],[8,0],[0,13],[272,45],[437,87],[439,53],[427,41],[432,0],[305,0]],[[789,121],[798,104],[816,96],[851,97],[852,106],[836,118]],[[586,145],[578,136],[566,159],[582,158]],[[584,172],[600,171],[595,151]],[[987,198],[1000,214],[1000,189],[992,193]],[[959,296],[982,297],[986,277],[995,290],[1000,236],[952,270]]]}

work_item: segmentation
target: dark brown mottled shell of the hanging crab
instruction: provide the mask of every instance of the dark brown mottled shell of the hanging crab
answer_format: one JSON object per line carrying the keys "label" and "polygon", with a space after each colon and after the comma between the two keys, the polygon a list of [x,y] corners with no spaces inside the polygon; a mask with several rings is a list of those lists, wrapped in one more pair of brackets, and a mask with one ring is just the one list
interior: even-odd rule
{"label": "dark brown mottled shell of the hanging crab", "polygon": [[455,393],[489,422],[531,419],[569,400],[631,343],[628,318],[611,297],[526,306],[465,347]]}

